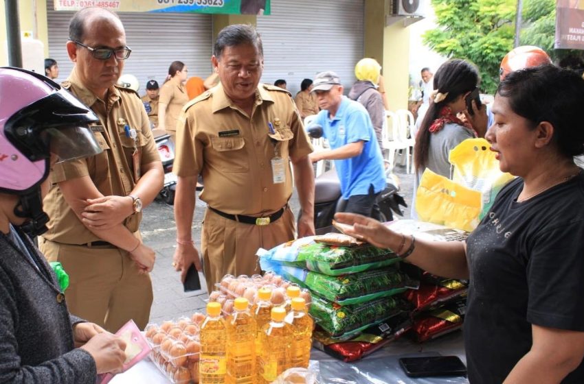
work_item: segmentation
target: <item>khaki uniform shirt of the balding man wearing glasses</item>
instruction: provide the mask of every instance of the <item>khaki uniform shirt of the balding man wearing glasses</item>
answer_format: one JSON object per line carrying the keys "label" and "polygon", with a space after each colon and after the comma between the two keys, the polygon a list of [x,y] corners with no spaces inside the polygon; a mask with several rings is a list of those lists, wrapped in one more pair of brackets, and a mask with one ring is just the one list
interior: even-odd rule
{"label": "khaki uniform shirt of the balding man wearing glasses", "polygon": [[[59,243],[85,244],[99,238],[81,223],[56,183],[89,176],[103,195],[126,196],[137,182],[133,166],[135,150],[139,154],[136,159],[141,167],[159,161],[160,157],[146,110],[134,91],[112,86],[107,99],[101,100],[80,84],[75,69],[62,85],[98,115],[99,125],[91,128],[103,152],[54,165],[51,172],[54,185],[43,206],[51,219],[47,225],[49,230],[43,237]],[[136,130],[136,141],[126,136],[126,125]],[[126,218],[124,226],[136,232],[141,219],[142,213],[131,215]]]}

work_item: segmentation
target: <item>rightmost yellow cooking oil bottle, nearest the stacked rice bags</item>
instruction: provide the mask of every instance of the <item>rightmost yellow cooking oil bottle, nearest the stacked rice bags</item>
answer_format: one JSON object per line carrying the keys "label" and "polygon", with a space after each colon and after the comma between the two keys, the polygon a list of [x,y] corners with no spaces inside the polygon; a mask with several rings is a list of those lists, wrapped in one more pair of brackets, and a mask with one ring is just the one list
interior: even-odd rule
{"label": "rightmost yellow cooking oil bottle, nearest the stacked rice bags", "polygon": [[314,321],[306,313],[306,303],[303,298],[292,299],[292,311],[286,315],[286,322],[291,324],[294,335],[290,352],[290,368],[308,368]]}

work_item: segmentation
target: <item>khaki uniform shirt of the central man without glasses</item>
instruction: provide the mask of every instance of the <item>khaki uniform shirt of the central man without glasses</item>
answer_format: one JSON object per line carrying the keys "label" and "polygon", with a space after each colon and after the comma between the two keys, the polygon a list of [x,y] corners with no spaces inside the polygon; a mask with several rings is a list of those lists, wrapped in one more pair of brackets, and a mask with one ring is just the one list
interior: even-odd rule
{"label": "khaki uniform shirt of the central man without glasses", "polygon": [[[183,177],[201,174],[201,200],[232,215],[282,208],[292,194],[289,158],[312,152],[290,93],[276,86],[258,86],[251,117],[216,86],[185,106],[181,124],[173,171]],[[276,151],[285,171],[285,181],[278,184],[271,167]]]}

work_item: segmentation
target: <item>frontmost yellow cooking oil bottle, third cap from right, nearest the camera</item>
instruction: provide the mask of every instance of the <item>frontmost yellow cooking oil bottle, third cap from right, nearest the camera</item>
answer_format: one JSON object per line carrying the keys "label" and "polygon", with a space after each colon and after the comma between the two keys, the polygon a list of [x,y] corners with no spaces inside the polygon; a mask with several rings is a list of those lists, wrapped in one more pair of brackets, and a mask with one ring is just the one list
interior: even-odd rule
{"label": "frontmost yellow cooking oil bottle, third cap from right, nearest the camera", "polygon": [[258,384],[276,380],[279,374],[290,368],[292,326],[284,322],[286,311],[282,307],[271,309],[271,321],[262,328],[260,335],[260,377]]}

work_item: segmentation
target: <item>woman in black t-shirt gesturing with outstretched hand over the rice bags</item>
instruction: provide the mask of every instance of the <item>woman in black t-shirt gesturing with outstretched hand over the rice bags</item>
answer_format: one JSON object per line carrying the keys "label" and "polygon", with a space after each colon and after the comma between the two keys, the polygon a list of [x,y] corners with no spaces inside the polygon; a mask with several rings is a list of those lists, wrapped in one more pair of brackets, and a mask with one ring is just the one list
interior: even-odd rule
{"label": "woman in black t-shirt gesturing with outstretched hand over the rice bags", "polygon": [[584,383],[584,80],[550,64],[510,73],[485,139],[517,179],[466,242],[414,239],[337,214],[348,233],[432,274],[470,278],[471,383]]}

